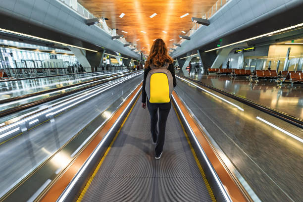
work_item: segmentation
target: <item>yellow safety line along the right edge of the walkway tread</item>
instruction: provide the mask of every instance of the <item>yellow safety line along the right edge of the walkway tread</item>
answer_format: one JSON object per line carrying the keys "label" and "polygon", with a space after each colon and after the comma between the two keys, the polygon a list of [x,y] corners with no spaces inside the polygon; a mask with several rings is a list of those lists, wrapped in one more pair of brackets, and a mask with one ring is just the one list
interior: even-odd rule
{"label": "yellow safety line along the right edge of the walkway tread", "polygon": [[189,138],[188,138],[188,135],[187,135],[187,133],[186,133],[186,131],[185,131],[185,129],[184,129],[184,126],[183,126],[183,124],[182,124],[182,122],[181,122],[180,116],[179,116],[179,114],[178,114],[178,112],[177,112],[177,109],[176,109],[176,107],[175,107],[174,104],[173,104],[173,107],[174,107],[174,109],[175,109],[175,112],[176,112],[177,117],[178,117],[178,119],[179,119],[179,122],[180,122],[180,124],[181,124],[182,130],[183,130],[183,132],[184,132],[184,134],[185,134],[186,140],[187,140],[187,142],[188,142],[188,144],[189,144],[189,146],[190,146],[190,148],[191,148],[191,151],[192,151],[192,153],[193,153],[193,155],[194,155],[194,158],[195,158],[195,160],[196,160],[196,163],[197,163],[197,165],[198,165],[198,167],[199,167],[199,170],[200,170],[200,172],[201,172],[203,181],[204,181],[204,183],[205,183],[205,186],[206,186],[206,189],[207,189],[207,191],[208,191],[208,194],[209,194],[209,196],[210,196],[210,198],[211,198],[211,201],[212,201],[212,202],[216,202],[216,198],[214,197],[214,195],[213,195],[213,193],[212,193],[212,190],[211,190],[211,188],[210,188],[210,186],[209,186],[209,183],[208,183],[208,181],[207,181],[207,179],[206,179],[206,176],[205,176],[205,173],[204,173],[204,171],[203,171],[203,168],[202,168],[202,166],[201,166],[201,164],[200,164],[200,161],[199,161],[199,159],[198,159],[198,157],[197,157],[197,154],[196,154],[196,152],[195,152],[195,150],[194,150],[194,148],[193,148],[193,146],[192,146],[192,144],[191,144],[191,142],[190,142],[190,140],[189,140]]}

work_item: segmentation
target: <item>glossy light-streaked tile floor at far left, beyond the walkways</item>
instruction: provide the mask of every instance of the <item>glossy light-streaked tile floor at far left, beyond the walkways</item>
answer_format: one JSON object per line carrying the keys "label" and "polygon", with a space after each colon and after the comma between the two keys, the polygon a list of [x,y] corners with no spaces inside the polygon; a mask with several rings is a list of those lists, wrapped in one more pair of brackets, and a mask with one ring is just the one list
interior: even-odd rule
{"label": "glossy light-streaked tile floor at far left, beyond the walkways", "polygon": [[0,100],[32,94],[35,92],[50,90],[58,87],[69,86],[85,81],[90,81],[126,70],[92,72],[85,74],[72,74],[64,76],[53,76],[47,78],[24,79],[19,81],[8,81],[0,83]]}

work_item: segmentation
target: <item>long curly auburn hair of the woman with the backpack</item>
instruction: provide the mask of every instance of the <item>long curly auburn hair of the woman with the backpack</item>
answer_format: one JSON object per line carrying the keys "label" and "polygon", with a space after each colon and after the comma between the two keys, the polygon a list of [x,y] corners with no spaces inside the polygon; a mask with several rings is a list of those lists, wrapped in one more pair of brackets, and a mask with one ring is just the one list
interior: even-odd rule
{"label": "long curly auburn hair of the woman with the backpack", "polygon": [[145,63],[145,68],[148,68],[152,63],[156,67],[161,67],[163,64],[172,63],[173,59],[168,55],[167,47],[162,39],[156,39],[150,50],[150,55]]}

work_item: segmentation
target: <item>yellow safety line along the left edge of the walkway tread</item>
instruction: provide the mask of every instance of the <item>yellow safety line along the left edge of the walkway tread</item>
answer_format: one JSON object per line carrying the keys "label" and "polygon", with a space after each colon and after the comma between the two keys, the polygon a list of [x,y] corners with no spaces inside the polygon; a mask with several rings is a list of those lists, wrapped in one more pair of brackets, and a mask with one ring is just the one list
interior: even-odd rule
{"label": "yellow safety line along the left edge of the walkway tread", "polygon": [[107,155],[107,153],[109,152],[111,146],[112,146],[113,143],[115,142],[115,140],[116,140],[118,134],[119,134],[120,131],[121,131],[121,128],[123,127],[123,125],[124,125],[126,119],[128,118],[130,112],[133,110],[133,108],[134,108],[136,102],[138,101],[140,95],[141,95],[141,93],[139,94],[139,96],[138,96],[138,98],[136,99],[136,101],[134,102],[132,108],[130,109],[130,111],[129,111],[128,114],[126,115],[125,119],[123,120],[123,122],[122,122],[122,124],[121,124],[119,130],[117,131],[115,137],[112,139],[112,141],[111,141],[110,145],[108,146],[106,152],[105,152],[104,155],[102,156],[102,158],[101,158],[99,164],[97,165],[97,167],[96,167],[96,169],[95,169],[93,175],[90,177],[90,179],[88,180],[87,184],[85,185],[85,187],[84,187],[83,191],[81,192],[81,194],[80,194],[80,196],[79,196],[77,202],[81,202],[81,201],[82,201],[82,199],[83,199],[85,193],[87,192],[88,188],[90,187],[91,183],[93,182],[93,179],[95,178],[96,174],[98,173],[98,171],[99,171],[99,169],[100,169],[100,167],[101,167],[101,164],[102,164],[104,158],[106,157],[106,155]]}

